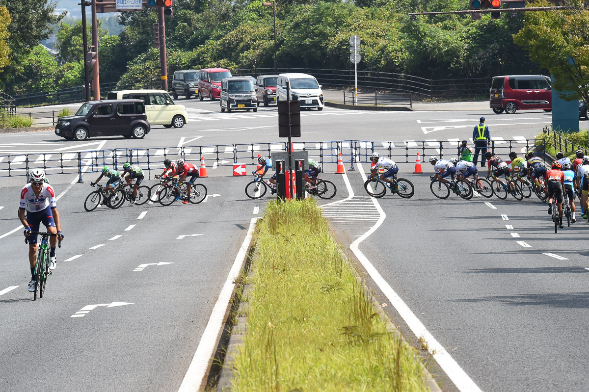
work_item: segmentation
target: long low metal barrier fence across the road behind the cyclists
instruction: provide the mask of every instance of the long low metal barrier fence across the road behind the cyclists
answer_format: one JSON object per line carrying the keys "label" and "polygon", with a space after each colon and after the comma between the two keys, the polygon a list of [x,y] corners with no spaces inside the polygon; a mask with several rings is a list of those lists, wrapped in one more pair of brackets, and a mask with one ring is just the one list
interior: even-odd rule
{"label": "long low metal barrier fence across the road behind the cyclists", "polygon": [[[491,149],[494,154],[507,157],[509,152],[534,148],[536,140],[494,141]],[[342,161],[350,164],[350,170],[355,170],[357,162],[369,162],[373,152],[389,157],[398,163],[413,163],[419,153],[422,162],[426,155],[438,157],[458,156],[458,141],[323,141],[323,142],[293,142],[294,151],[308,151],[309,158],[320,164],[336,164],[339,154]],[[536,146],[536,150],[541,150]],[[234,163],[257,165],[257,157],[271,155],[272,152],[287,151],[285,142],[264,142],[256,144],[221,144],[186,147],[156,147],[156,148],[115,148],[110,150],[84,150],[76,152],[47,152],[37,154],[9,154],[0,155],[0,177],[22,176],[28,178],[28,173],[34,168],[43,168],[47,174],[77,174],[82,182],[84,173],[99,172],[105,165],[122,169],[125,162],[138,164],[147,171],[151,178],[152,171],[161,171],[164,160],[186,161],[200,165],[203,158],[209,169],[229,167]]]}

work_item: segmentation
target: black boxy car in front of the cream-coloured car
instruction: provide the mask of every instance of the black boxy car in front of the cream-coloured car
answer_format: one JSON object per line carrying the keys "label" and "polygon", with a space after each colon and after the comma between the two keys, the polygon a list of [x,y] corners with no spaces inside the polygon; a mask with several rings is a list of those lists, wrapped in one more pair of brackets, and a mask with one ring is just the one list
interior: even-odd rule
{"label": "black boxy car in front of the cream-coloured car", "polygon": [[76,114],[59,117],[55,134],[67,140],[98,136],[142,139],[150,131],[141,99],[107,99],[82,104]]}

